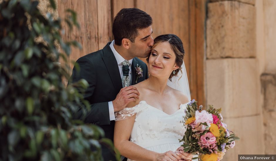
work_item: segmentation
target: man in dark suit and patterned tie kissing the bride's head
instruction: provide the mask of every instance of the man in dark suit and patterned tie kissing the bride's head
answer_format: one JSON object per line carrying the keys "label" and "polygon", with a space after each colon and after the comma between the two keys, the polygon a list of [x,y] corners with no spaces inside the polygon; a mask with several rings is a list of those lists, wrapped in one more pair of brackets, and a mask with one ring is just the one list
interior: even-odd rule
{"label": "man in dark suit and patterned tie kissing the bride's head", "polygon": [[[137,57],[146,58],[154,43],[152,18],[137,8],[124,8],[114,18],[112,32],[114,40],[97,51],[80,57],[74,66],[71,82],[85,79],[89,86],[85,99],[90,102],[91,110],[85,115],[84,122],[100,126],[105,137],[113,141],[115,115],[129,102],[139,98],[134,85],[148,78],[147,65]],[[139,73],[140,67],[142,75]],[[81,111],[74,116],[83,117]],[[114,152],[102,146],[104,160],[116,160]]]}

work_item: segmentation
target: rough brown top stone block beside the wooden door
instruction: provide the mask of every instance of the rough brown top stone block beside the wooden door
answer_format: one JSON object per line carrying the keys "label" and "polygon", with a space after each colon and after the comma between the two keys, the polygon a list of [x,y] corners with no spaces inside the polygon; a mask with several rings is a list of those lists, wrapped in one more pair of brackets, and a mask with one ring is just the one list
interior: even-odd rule
{"label": "rough brown top stone block beside the wooden door", "polygon": [[255,6],[238,1],[208,3],[207,59],[256,56]]}

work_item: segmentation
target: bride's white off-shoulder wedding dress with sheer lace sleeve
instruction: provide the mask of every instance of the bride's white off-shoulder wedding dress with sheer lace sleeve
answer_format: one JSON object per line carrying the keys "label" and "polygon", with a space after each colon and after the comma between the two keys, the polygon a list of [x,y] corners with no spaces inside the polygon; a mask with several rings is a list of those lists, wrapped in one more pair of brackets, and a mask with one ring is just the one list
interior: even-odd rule
{"label": "bride's white off-shoulder wedding dress with sheer lace sleeve", "polygon": [[[131,108],[124,108],[115,113],[116,121],[127,119],[134,114],[136,118],[130,134],[130,141],[154,152],[165,153],[175,151],[182,145],[185,128],[182,121],[186,104],[181,104],[179,110],[169,115],[152,107],[146,101],[141,101]],[[128,159],[130,161],[130,159]]]}

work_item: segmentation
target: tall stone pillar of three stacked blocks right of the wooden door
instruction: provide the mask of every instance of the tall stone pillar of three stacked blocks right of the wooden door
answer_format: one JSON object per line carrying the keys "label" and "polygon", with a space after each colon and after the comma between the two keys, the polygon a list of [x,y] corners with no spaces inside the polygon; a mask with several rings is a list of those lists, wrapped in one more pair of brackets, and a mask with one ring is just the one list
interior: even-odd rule
{"label": "tall stone pillar of three stacked blocks right of the wooden door", "polygon": [[210,0],[206,22],[207,104],[222,108],[240,140],[223,160],[264,154],[255,0]]}

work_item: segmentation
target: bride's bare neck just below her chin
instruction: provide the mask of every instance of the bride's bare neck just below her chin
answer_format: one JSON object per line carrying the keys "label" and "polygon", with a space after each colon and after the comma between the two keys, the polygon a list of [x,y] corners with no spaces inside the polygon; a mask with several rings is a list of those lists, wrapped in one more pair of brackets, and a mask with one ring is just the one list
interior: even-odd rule
{"label": "bride's bare neck just below her chin", "polygon": [[149,76],[147,79],[148,81],[148,88],[153,90],[159,94],[163,94],[166,87],[167,87],[167,79],[160,79],[154,76]]}

